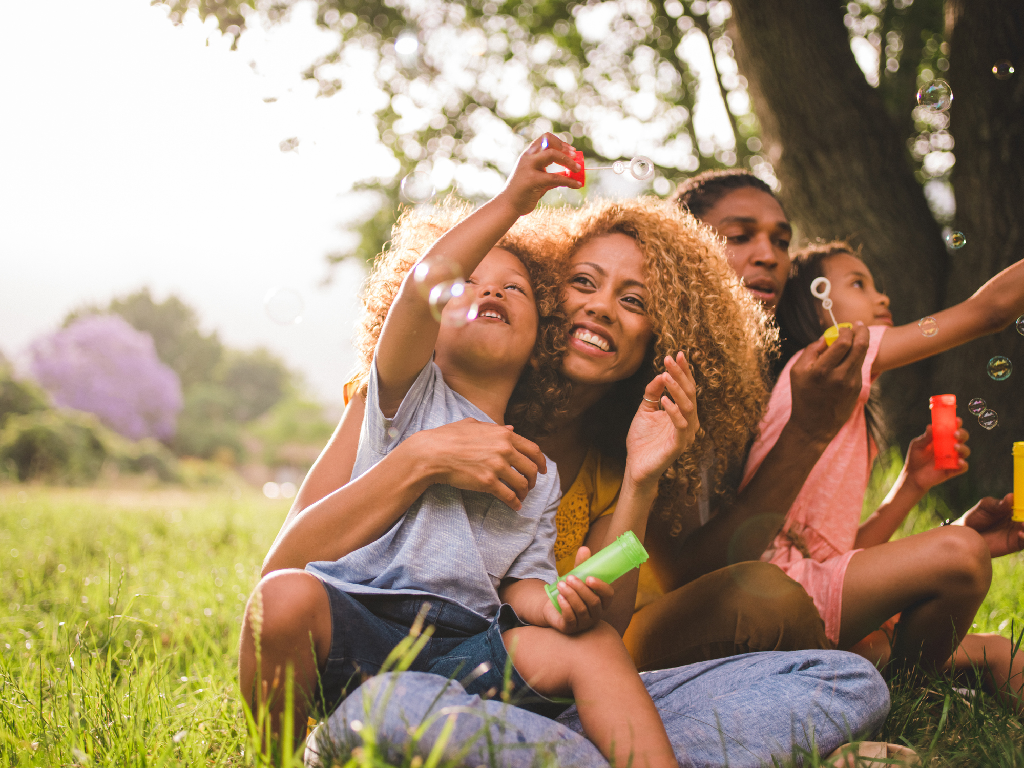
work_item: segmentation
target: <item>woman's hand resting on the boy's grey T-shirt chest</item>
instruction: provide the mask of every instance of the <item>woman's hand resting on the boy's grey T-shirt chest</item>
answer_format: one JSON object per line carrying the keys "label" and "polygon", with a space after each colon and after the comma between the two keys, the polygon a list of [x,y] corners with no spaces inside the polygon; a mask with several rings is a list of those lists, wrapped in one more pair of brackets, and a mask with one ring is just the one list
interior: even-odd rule
{"label": "woman's hand resting on the boy's grey T-shirt chest", "polygon": [[431,482],[490,494],[514,510],[547,474],[537,443],[510,426],[466,418],[410,436],[396,450],[415,452]]}

